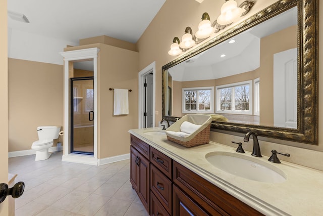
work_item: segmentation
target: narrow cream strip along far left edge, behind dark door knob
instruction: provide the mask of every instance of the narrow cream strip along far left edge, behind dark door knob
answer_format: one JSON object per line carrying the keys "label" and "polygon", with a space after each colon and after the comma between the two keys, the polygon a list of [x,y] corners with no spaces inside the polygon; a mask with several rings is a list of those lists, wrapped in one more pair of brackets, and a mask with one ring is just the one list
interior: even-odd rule
{"label": "narrow cream strip along far left edge, behind dark door knob", "polygon": [[[7,0],[0,0],[0,183],[8,183],[8,27]],[[0,215],[9,214],[8,199],[0,204]]]}

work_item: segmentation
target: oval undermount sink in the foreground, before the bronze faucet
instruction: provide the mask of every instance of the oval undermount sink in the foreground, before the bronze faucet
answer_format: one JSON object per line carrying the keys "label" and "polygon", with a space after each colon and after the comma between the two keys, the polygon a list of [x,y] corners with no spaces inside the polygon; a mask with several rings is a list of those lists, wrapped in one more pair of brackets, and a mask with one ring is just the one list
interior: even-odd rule
{"label": "oval undermount sink in the foreground, before the bronze faucet", "polygon": [[214,167],[253,181],[281,183],[287,178],[276,166],[238,153],[210,152],[205,158]]}

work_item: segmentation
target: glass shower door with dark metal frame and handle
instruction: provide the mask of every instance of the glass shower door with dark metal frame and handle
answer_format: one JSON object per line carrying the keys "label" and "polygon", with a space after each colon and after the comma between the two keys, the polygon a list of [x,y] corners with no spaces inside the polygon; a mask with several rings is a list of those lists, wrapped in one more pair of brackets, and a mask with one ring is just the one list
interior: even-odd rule
{"label": "glass shower door with dark metal frame and handle", "polygon": [[93,76],[71,78],[71,105],[71,153],[93,155]]}

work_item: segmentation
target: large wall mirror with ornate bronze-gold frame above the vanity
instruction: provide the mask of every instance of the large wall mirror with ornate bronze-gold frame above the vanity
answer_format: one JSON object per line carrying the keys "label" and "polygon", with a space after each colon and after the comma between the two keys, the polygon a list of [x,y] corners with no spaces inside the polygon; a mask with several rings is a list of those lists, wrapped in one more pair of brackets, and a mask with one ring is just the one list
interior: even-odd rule
{"label": "large wall mirror with ornate bronze-gold frame above the vanity", "polygon": [[163,117],[315,145],[317,78],[317,0],[278,1],[163,66]]}

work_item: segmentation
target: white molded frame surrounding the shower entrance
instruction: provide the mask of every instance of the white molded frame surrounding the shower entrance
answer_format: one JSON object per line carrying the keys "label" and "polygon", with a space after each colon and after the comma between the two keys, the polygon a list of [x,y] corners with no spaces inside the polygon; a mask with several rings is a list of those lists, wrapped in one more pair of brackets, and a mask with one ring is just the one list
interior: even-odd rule
{"label": "white molded frame surrounding the shower entrance", "polygon": [[70,69],[77,60],[93,59],[93,82],[94,82],[94,113],[97,112],[97,58],[99,48],[88,48],[60,53],[64,57],[64,154],[63,161],[81,162],[86,164],[98,164],[97,159],[97,114],[94,115],[94,152],[93,156],[71,154],[71,129],[70,129]]}

